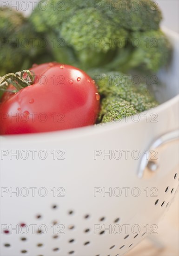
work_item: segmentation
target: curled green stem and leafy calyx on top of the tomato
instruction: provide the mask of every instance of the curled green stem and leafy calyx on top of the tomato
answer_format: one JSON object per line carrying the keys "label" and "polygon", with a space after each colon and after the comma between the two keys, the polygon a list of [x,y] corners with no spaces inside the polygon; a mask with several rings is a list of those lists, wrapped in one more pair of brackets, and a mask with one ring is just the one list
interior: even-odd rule
{"label": "curled green stem and leafy calyx on top of the tomato", "polygon": [[[23,77],[24,74],[27,74],[26,78]],[[34,76],[27,69],[20,72],[5,74],[0,77],[0,90],[6,91],[7,87],[12,84],[17,91],[33,84]]]}

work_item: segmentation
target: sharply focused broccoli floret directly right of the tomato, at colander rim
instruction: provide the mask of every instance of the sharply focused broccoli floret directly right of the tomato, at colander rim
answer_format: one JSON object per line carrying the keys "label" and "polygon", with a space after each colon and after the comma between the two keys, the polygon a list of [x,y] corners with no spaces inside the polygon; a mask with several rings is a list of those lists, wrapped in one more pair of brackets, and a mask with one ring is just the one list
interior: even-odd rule
{"label": "sharply focused broccoli floret directly right of the tomato, at colander rim", "polygon": [[135,115],[158,105],[146,85],[136,86],[129,75],[120,72],[94,73],[93,79],[101,95],[99,117],[102,116],[102,122],[109,121],[112,116],[117,120],[125,115]]}

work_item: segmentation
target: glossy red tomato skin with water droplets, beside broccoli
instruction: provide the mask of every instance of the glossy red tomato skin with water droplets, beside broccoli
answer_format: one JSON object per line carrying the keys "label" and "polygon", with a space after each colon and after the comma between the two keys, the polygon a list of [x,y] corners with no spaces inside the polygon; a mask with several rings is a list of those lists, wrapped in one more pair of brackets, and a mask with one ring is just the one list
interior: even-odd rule
{"label": "glossy red tomato skin with water droplets, beside broccoli", "polygon": [[93,125],[99,112],[94,81],[82,70],[59,63],[30,69],[33,85],[5,95],[0,134],[39,133]]}

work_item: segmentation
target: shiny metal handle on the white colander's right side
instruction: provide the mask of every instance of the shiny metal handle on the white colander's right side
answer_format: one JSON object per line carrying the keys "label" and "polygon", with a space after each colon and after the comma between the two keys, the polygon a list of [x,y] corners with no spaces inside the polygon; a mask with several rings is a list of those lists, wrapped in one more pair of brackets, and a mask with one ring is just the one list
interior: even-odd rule
{"label": "shiny metal handle on the white colander's right side", "polygon": [[[172,141],[178,141],[178,140],[179,140],[179,130],[166,133],[152,142],[150,148],[148,149],[148,152],[151,152],[152,150],[159,148],[160,146],[166,143],[169,143]],[[139,178],[142,178],[144,176],[144,171],[147,166],[151,171],[157,170],[157,164],[155,162],[152,162],[146,159],[146,154],[144,154],[139,164],[139,170],[137,174]]]}

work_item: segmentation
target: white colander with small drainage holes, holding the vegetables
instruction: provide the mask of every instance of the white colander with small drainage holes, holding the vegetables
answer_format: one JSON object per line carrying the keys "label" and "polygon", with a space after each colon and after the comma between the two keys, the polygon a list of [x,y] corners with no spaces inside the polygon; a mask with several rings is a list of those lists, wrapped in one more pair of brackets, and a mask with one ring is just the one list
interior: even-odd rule
{"label": "white colander with small drainage holes, holding the vegetables", "polygon": [[166,33],[170,100],[127,122],[1,137],[2,256],[123,255],[157,236],[179,180],[178,36]]}

